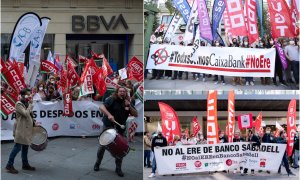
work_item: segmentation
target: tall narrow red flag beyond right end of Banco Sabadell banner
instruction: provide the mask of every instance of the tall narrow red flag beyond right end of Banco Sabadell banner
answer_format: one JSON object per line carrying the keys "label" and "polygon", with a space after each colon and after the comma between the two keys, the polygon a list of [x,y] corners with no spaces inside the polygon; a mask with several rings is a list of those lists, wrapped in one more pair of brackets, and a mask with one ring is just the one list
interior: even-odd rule
{"label": "tall narrow red flag beyond right end of Banco Sabadell banner", "polygon": [[290,157],[292,155],[294,147],[294,137],[296,134],[296,99],[292,99],[289,104],[287,112],[287,154]]}

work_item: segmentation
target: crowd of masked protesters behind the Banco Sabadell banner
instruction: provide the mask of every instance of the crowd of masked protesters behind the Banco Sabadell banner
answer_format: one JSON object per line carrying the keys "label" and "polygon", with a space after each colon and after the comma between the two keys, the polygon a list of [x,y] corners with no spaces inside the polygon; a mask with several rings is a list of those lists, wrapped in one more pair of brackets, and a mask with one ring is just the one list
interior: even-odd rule
{"label": "crowd of masked protesters behind the Banco Sabadell banner", "polygon": [[[263,134],[259,134],[255,132],[253,129],[249,129],[246,132],[245,136],[241,135],[239,130],[235,131],[233,142],[251,142],[253,146],[260,146],[261,143],[280,143],[287,144],[287,133],[284,130],[279,131],[277,137],[275,137],[277,132],[271,132],[270,127],[265,128],[265,132]],[[220,143],[228,143],[228,137],[225,135],[224,131],[219,132],[219,141]],[[198,145],[198,144],[207,144],[207,141],[202,132],[199,132],[195,137],[190,135],[187,137],[185,132],[182,132],[181,137],[174,136],[173,140],[169,143],[167,139],[162,135],[162,132],[154,132],[152,135],[149,132],[144,133],[144,167],[152,168],[152,172],[150,174],[150,178],[155,177],[156,172],[156,160],[154,156],[154,148],[156,147],[165,147],[165,146],[182,146],[182,145]],[[151,160],[152,157],[152,160]],[[287,152],[284,152],[282,163],[278,169],[278,174],[281,174],[281,166],[283,165],[286,169],[288,176],[295,174],[291,171],[291,168],[299,168],[299,132],[296,133],[294,139],[294,148],[293,153],[290,159],[287,157]],[[240,167],[239,171],[241,176],[244,176],[248,173],[247,167]],[[229,171],[223,171],[225,173],[230,173]],[[233,173],[237,173],[238,170],[234,169]],[[262,171],[258,171],[261,173]],[[212,172],[210,172],[212,173]],[[270,174],[270,171],[267,171]],[[251,175],[255,175],[254,170],[251,169]]]}

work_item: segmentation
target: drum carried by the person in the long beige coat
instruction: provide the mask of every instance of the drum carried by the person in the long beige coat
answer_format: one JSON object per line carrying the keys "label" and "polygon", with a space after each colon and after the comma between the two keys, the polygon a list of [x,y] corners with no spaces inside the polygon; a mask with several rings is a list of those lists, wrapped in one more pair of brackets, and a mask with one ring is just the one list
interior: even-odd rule
{"label": "drum carried by the person in the long beige coat", "polygon": [[33,127],[31,149],[35,151],[42,151],[47,147],[48,133],[45,128],[41,126]]}

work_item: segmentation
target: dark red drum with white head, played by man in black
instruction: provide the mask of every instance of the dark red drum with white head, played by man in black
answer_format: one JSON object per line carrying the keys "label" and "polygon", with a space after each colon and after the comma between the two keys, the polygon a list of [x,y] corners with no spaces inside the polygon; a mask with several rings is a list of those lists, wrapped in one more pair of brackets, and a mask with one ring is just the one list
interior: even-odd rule
{"label": "dark red drum with white head, played by man in black", "polygon": [[99,137],[99,143],[105,146],[105,149],[107,149],[113,157],[119,159],[126,156],[130,150],[127,140],[112,128],[103,130]]}

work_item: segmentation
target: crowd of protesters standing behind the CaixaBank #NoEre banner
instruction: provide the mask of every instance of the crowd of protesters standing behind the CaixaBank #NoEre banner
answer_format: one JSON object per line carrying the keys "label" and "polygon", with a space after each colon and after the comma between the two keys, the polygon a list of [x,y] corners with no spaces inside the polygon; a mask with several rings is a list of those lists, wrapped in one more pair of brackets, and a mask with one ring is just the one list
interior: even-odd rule
{"label": "crowd of protesters standing behind the CaixaBank #NoEre banner", "polygon": [[[299,44],[299,38],[281,38],[277,40],[279,46],[282,47],[284,50],[284,55],[287,60],[287,68],[284,69],[279,53],[276,49],[276,58],[275,58],[275,71],[274,71],[274,77],[268,78],[268,77],[261,77],[260,83],[262,85],[282,85],[285,87],[292,87],[295,86],[297,89],[299,89],[299,51],[300,51],[300,44]],[[159,44],[165,44],[162,41],[157,41],[155,43]],[[169,44],[166,42],[166,44]],[[175,45],[175,43],[171,43]],[[260,48],[260,49],[268,49],[268,48],[276,48],[274,39],[270,37],[264,37],[259,38],[259,40],[255,43],[253,43],[251,46],[249,44],[248,38],[244,37],[242,39],[239,38],[233,38],[231,41],[227,40],[228,47],[241,47],[241,48]],[[180,42],[178,45],[184,46],[184,42]],[[187,46],[192,46],[192,44],[188,44]],[[208,44],[205,41],[200,42],[200,46],[208,46]],[[213,47],[222,47],[221,43],[218,41],[212,42],[211,46]],[[183,74],[185,76],[183,77]],[[213,74],[204,74],[204,73],[191,73],[192,76],[189,76],[189,72],[183,72],[183,71],[171,71],[171,70],[152,70],[152,77],[149,78],[149,80],[152,79],[172,79],[172,80],[188,80],[192,78],[194,81],[213,81],[214,84],[222,84],[226,85],[228,83],[231,83],[233,86],[241,85],[241,86],[254,86],[255,84],[258,84],[259,82],[254,83],[253,77],[233,77],[230,78],[230,82],[226,82],[224,79],[224,76],[218,76]],[[277,81],[277,77],[278,80]]]}

